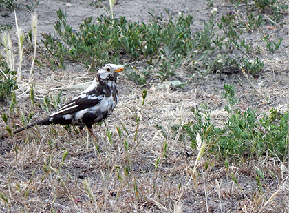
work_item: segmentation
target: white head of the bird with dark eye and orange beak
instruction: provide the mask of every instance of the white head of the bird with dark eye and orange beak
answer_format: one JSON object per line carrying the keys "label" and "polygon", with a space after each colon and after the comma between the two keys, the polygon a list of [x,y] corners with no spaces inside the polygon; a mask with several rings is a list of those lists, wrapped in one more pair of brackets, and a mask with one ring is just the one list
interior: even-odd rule
{"label": "white head of the bird with dark eye and orange beak", "polygon": [[116,81],[118,72],[123,70],[125,70],[125,68],[122,65],[109,63],[98,70],[98,77],[103,81]]}

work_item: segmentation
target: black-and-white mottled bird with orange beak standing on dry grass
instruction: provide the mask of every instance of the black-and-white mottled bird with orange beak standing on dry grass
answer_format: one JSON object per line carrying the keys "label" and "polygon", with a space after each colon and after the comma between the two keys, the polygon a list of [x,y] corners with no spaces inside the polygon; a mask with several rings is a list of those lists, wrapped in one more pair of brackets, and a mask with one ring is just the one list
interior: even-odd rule
{"label": "black-and-white mottled bird with orange beak standing on dry grass", "polygon": [[[104,121],[111,115],[118,103],[118,90],[116,80],[118,72],[124,71],[122,65],[106,64],[100,68],[92,81],[81,94],[65,103],[56,112],[45,119],[31,123],[25,128],[15,130],[13,134],[35,125],[77,125],[81,130],[86,126],[92,132],[92,125]],[[96,139],[96,136],[94,136]],[[96,139],[97,141],[97,139]]]}

